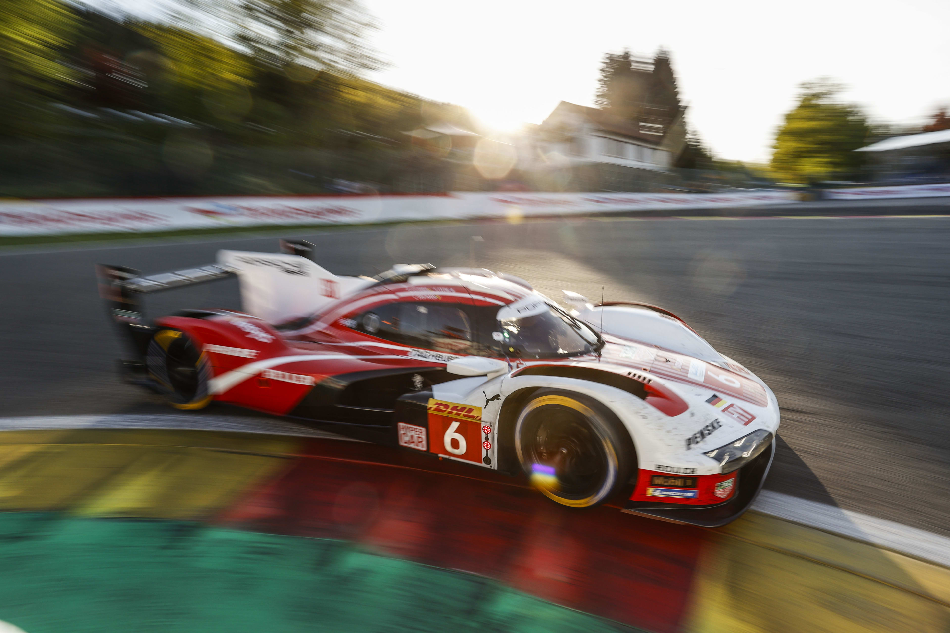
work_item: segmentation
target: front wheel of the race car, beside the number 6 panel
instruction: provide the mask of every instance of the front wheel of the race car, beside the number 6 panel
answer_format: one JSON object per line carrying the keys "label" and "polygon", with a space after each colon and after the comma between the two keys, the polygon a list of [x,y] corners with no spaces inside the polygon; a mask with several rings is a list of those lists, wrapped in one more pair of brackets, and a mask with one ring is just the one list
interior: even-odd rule
{"label": "front wheel of the race car, beside the number 6 panel", "polygon": [[625,488],[636,456],[633,441],[606,406],[581,394],[541,389],[515,422],[515,450],[542,494],[589,508]]}

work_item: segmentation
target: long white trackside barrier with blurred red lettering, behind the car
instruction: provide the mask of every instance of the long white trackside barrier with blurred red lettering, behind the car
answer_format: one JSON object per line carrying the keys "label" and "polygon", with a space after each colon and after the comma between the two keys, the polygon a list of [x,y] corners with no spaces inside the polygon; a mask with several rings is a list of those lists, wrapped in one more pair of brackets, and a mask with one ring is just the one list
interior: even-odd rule
{"label": "long white trackside barrier with blurred red lettering, behind the car", "polygon": [[288,224],[570,215],[783,204],[781,191],[719,194],[454,193],[90,198],[0,202],[0,236],[179,231]]}

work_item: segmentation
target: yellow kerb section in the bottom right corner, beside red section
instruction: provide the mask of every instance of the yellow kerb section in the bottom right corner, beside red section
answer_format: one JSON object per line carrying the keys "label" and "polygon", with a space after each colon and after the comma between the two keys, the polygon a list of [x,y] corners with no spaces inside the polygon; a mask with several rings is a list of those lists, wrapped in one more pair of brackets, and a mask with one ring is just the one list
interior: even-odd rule
{"label": "yellow kerb section in the bottom right corner, beside red section", "polygon": [[686,631],[945,631],[950,569],[750,512],[709,531]]}

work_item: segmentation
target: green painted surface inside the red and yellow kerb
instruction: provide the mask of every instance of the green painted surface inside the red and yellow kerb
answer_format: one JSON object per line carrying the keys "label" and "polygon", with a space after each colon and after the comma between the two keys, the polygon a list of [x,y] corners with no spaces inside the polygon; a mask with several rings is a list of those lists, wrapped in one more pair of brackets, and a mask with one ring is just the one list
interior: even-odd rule
{"label": "green painted surface inside the red and yellow kerb", "polygon": [[0,620],[27,633],[630,631],[341,541],[0,513]]}

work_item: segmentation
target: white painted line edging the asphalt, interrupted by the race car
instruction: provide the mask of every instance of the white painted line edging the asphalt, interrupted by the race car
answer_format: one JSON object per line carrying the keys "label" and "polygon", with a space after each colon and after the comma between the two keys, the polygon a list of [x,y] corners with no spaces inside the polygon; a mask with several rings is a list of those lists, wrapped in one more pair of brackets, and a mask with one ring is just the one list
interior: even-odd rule
{"label": "white painted line edging the asphalt, interrupted by the race car", "polygon": [[[267,418],[181,414],[0,418],[0,431],[69,429],[181,429],[358,441],[293,422]],[[940,534],[768,490],[759,494],[751,510],[950,567],[950,538]]]}

